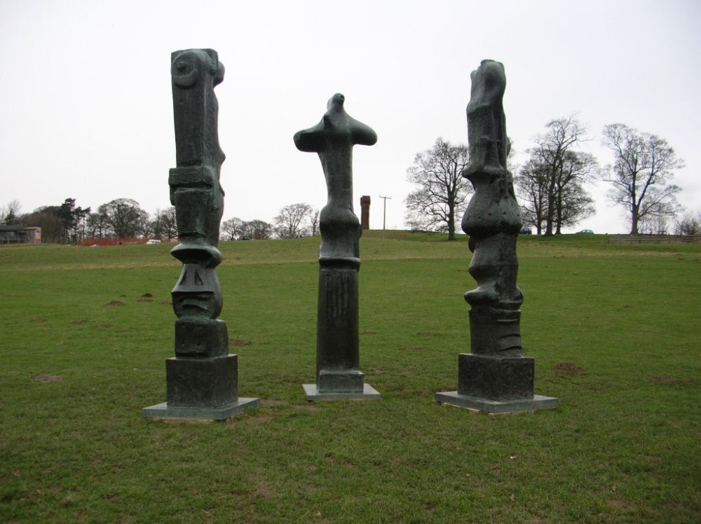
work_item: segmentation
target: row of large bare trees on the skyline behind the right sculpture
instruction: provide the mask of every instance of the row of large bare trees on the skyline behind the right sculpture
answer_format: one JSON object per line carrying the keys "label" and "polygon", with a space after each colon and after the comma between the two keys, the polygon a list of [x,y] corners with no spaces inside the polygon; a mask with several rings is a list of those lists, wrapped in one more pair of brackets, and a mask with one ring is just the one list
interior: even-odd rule
{"label": "row of large bare trees on the skyline behind the right sculpture", "polygon": [[[674,233],[694,230],[701,212],[678,216],[683,209],[675,195],[681,188],[671,181],[684,163],[674,148],[665,139],[623,124],[607,125],[601,135],[602,144],[613,153],[611,165],[599,166],[594,156],[581,150],[589,137],[575,116],[548,122],[526,150],[526,162],[508,165],[524,225],[538,235],[557,235],[587,219],[595,212],[587,184],[602,180],[610,184],[608,200],[625,209],[632,235],[669,233],[675,218]],[[472,193],[461,176],[468,162],[465,144],[442,138],[416,155],[407,180],[417,188],[404,200],[405,221],[412,229],[447,231],[454,240],[456,217],[462,216]]]}

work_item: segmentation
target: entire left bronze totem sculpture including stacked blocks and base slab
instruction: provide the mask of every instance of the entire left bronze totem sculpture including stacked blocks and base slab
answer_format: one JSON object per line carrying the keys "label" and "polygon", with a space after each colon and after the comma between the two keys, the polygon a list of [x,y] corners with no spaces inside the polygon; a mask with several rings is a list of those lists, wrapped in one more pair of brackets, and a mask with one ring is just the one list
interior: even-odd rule
{"label": "entire left bronze totem sculpture including stacked blocks and base slab", "polygon": [[142,410],[147,418],[224,420],[258,405],[238,397],[238,356],[229,354],[222,290],[215,268],[224,191],[219,171],[224,152],[217,135],[215,85],[224,66],[211,49],[171,55],[177,167],[170,170],[180,244],[171,251],[182,273],[171,291],[175,358],[165,361],[167,401]]}

